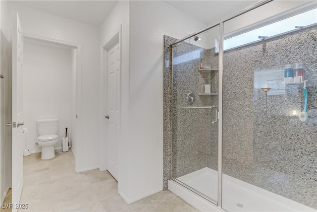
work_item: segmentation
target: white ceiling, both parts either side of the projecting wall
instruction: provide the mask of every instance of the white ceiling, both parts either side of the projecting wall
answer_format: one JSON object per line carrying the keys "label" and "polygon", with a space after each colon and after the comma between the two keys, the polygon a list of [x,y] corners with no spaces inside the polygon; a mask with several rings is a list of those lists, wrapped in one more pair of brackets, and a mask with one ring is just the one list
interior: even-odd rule
{"label": "white ceiling, both parts either side of the projecting wall", "polygon": [[[163,0],[206,25],[219,22],[261,0]],[[17,0],[35,9],[100,26],[117,0]]]}

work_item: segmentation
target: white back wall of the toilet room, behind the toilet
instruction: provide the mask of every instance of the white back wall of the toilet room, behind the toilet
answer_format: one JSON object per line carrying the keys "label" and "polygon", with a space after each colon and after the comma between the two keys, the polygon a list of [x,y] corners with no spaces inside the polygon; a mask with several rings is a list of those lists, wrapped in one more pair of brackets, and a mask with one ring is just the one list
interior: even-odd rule
{"label": "white back wall of the toilet room, behind the toilet", "polygon": [[68,128],[71,138],[72,49],[34,39],[24,39],[23,114],[28,129],[27,149],[41,152],[36,145],[37,119],[58,119],[55,149],[61,149],[61,138]]}

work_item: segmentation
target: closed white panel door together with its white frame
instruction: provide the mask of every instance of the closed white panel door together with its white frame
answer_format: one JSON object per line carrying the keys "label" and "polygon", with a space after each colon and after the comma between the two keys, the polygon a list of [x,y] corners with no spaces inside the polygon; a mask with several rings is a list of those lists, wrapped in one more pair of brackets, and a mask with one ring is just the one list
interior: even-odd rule
{"label": "closed white panel door together with its white frame", "polygon": [[[120,27],[121,28],[121,27]],[[120,139],[120,86],[121,86],[121,44],[120,30],[102,47],[102,171],[107,170],[116,180],[119,176],[118,143]],[[106,154],[105,154],[106,152]]]}

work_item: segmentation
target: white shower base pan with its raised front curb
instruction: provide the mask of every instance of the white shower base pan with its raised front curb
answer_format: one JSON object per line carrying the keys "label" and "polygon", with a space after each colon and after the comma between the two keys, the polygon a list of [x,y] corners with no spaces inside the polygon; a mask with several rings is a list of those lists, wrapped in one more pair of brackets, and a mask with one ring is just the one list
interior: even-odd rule
{"label": "white shower base pan with its raised front curb", "polygon": [[[205,167],[177,180],[217,200],[217,176],[217,171]],[[226,174],[222,175],[222,182],[222,208],[228,212],[316,212],[316,209]],[[200,211],[222,211],[173,180],[168,181],[168,189]]]}

